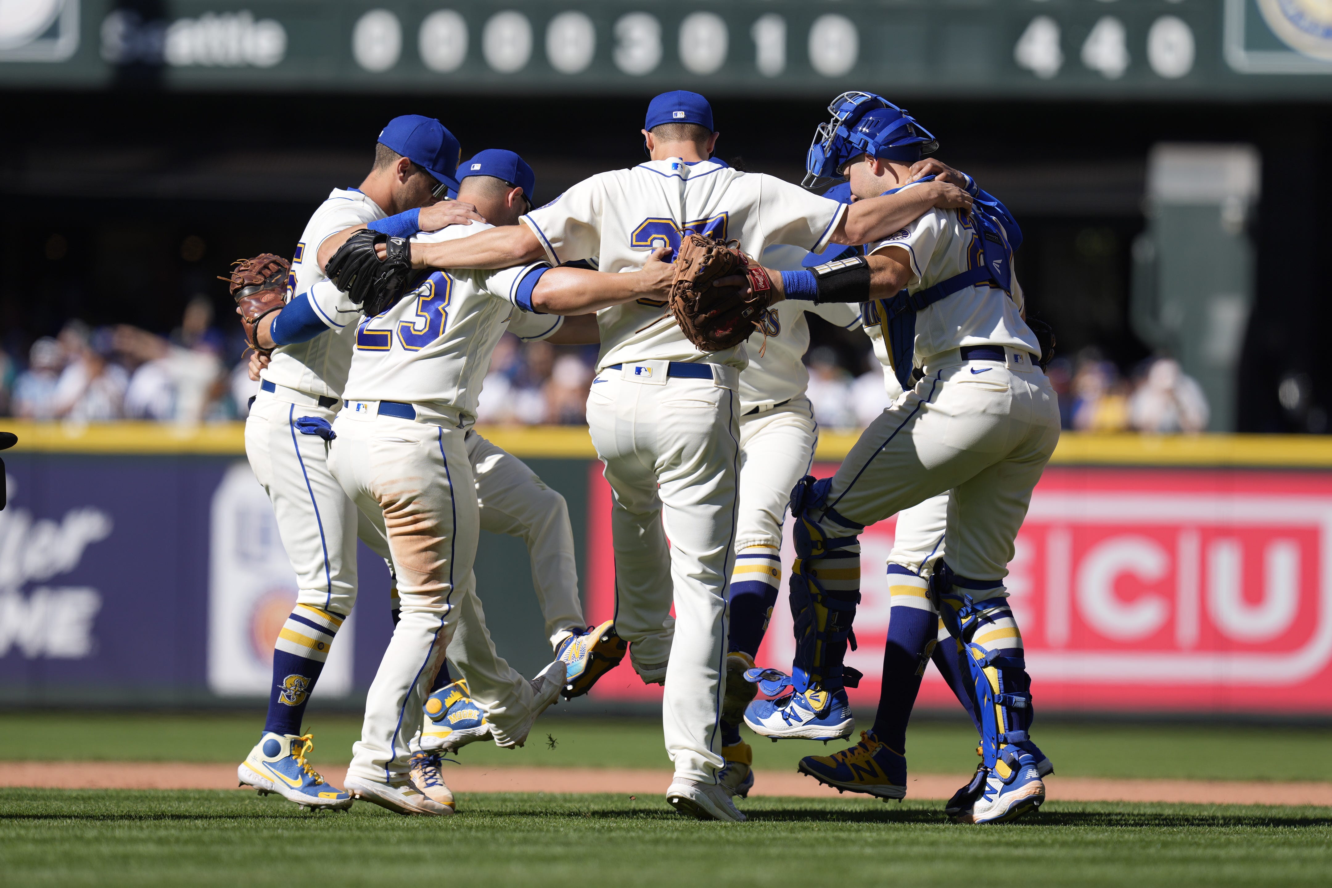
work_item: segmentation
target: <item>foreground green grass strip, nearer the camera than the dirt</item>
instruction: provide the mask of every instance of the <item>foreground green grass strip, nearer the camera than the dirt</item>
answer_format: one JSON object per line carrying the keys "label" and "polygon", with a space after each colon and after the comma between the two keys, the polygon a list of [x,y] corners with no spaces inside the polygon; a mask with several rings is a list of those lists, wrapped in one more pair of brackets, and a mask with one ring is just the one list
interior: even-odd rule
{"label": "foreground green grass strip, nearer the camera than the dirt", "polygon": [[1048,803],[975,828],[931,805],[474,796],[448,819],[309,815],[252,793],[0,789],[12,885],[1325,885],[1332,811]]}

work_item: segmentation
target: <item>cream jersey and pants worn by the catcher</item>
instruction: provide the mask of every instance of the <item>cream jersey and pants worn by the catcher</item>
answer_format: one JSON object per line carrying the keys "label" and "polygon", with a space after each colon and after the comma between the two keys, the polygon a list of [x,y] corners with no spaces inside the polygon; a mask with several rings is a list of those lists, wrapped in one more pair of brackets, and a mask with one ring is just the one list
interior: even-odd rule
{"label": "cream jersey and pants worn by the catcher", "polygon": [[[970,220],[932,209],[866,252],[903,248],[915,293],[979,261],[974,241]],[[866,429],[834,477],[814,513],[830,537],[851,529],[829,511],[871,525],[951,490],[948,564],[1002,586],[1031,490],[1059,439],[1055,394],[1032,362],[1040,346],[1020,300],[1016,285],[1010,298],[983,282],[916,313],[915,365],[924,375]],[[995,346],[1004,359],[967,359],[963,346]]]}

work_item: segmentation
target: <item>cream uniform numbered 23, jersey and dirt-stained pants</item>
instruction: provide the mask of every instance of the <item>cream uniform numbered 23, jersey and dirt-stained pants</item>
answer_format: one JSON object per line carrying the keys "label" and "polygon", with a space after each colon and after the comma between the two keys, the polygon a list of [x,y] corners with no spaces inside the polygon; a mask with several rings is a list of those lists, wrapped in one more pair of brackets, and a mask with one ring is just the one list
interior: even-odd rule
{"label": "cream uniform numbered 23, jersey and dirt-stained pants", "polygon": [[[484,230],[454,226],[422,241]],[[421,722],[424,676],[457,634],[460,666],[496,742],[531,714],[533,690],[494,651],[476,595],[481,515],[465,442],[490,353],[538,265],[433,272],[409,296],[356,328],[345,406],[329,467],[366,514],[382,514],[401,618],[370,684],[349,775],[398,783]]]}

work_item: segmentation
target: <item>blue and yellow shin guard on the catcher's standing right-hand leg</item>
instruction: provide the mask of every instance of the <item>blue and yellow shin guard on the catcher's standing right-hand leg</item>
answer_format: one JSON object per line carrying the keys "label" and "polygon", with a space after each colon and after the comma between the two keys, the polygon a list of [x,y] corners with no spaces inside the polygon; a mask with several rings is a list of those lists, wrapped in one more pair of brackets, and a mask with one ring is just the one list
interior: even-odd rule
{"label": "blue and yellow shin guard on the catcher's standing right-hand leg", "polygon": [[982,764],[1000,777],[1018,768],[1016,755],[1030,746],[1031,676],[1012,611],[1002,598],[975,600],[968,588],[995,588],[994,580],[958,576],[942,560],[931,578],[939,616],[962,646],[960,658],[975,684]]}

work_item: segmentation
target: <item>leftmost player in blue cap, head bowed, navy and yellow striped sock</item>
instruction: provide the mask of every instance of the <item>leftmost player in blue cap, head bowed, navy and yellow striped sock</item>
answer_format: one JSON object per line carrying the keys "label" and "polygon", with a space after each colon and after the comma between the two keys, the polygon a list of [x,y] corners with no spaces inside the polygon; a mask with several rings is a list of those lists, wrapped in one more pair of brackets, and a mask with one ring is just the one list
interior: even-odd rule
{"label": "leftmost player in blue cap, head bowed, navy and yellow striped sock", "polygon": [[[438,121],[418,116],[392,120],[380,133],[374,168],[360,188],[334,189],[310,217],[296,246],[288,290],[302,293],[324,280],[316,252],[324,238],[348,225],[393,225],[410,217],[418,228],[441,228],[478,220],[464,202],[436,202],[436,194],[453,181],[457,160],[457,140]],[[348,332],[282,342],[261,373],[260,391],[245,421],[245,454],[273,502],[298,592],[273,651],[264,732],[237,775],[242,785],[278,792],[297,804],[345,808],[352,797],[324,781],[308,763],[313,739],[301,734],[301,720],[337,630],[356,600],[357,535],[381,555],[389,550],[382,534],[357,514],[329,474],[325,442],[306,422],[333,418],[352,357]]]}

